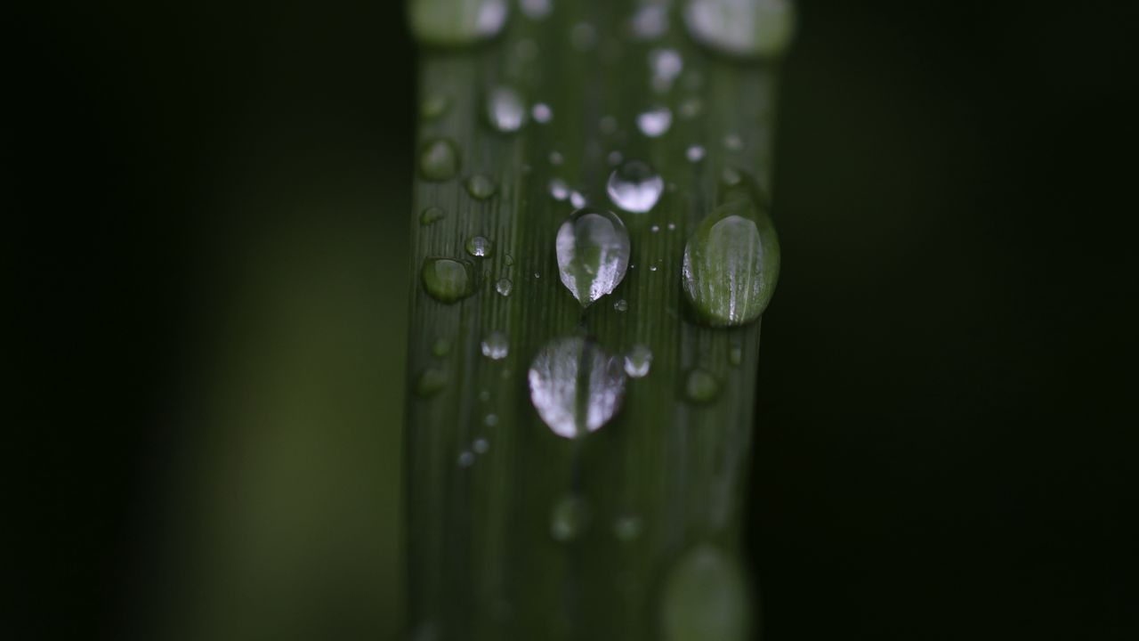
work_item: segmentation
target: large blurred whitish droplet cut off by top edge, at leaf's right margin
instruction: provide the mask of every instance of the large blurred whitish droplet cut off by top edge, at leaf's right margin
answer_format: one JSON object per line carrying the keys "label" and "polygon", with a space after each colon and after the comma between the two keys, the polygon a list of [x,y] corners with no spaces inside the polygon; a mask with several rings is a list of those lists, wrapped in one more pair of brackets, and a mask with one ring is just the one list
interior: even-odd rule
{"label": "large blurred whitish droplet cut off by top edge, at leaf's right margin", "polygon": [[795,32],[790,0],[688,0],[685,25],[700,44],[738,57],[781,54]]}

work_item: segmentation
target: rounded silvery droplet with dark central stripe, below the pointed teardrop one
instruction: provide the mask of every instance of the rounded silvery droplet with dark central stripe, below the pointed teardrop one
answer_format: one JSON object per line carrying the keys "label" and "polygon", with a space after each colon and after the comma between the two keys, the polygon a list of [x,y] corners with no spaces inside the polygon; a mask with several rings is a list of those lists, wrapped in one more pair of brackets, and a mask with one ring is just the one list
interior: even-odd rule
{"label": "rounded silvery droplet with dark central stripe, below the pointed teardrop one", "polygon": [[530,366],[530,399],[554,433],[577,438],[613,419],[625,391],[621,359],[585,339],[556,339]]}

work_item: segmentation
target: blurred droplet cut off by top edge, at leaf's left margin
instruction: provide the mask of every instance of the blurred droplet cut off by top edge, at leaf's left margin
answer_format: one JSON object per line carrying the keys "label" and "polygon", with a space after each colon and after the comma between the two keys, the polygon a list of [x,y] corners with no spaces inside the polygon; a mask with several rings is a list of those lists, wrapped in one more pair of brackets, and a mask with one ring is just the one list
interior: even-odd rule
{"label": "blurred droplet cut off by top edge, at leaf's left margin", "polygon": [[411,0],[411,33],[426,44],[457,47],[498,35],[509,11],[507,0]]}

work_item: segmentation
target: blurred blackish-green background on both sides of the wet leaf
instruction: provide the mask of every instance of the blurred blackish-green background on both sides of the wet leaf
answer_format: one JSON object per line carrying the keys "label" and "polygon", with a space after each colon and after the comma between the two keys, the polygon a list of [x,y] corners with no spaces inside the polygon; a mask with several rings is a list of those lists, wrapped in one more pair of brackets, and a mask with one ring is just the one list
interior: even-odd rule
{"label": "blurred blackish-green background on both sides of the wet leaf", "polygon": [[[1126,5],[800,3],[749,533],[768,640],[1139,634]],[[18,11],[28,638],[401,630],[400,6]]]}

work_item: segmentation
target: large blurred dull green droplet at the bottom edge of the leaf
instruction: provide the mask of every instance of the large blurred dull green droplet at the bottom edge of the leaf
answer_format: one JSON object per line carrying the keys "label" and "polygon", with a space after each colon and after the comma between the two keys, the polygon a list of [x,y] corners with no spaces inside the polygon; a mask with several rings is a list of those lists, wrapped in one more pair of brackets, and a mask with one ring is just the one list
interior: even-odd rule
{"label": "large blurred dull green droplet at the bottom edge of the leaf", "polygon": [[665,641],[743,641],[751,628],[748,606],[739,562],[700,544],[669,570],[661,628]]}

